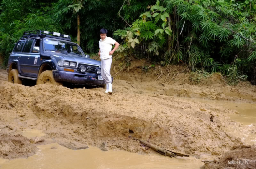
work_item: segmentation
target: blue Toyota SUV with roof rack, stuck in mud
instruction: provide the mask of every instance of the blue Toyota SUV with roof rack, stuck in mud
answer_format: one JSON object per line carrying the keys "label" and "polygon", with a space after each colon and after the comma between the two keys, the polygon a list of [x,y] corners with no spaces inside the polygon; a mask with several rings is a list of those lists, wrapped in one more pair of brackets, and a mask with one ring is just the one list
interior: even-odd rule
{"label": "blue Toyota SUV with roof rack, stuck in mud", "polygon": [[8,60],[8,81],[22,84],[87,84],[104,86],[100,61],[90,59],[69,35],[57,32],[29,31],[16,43]]}

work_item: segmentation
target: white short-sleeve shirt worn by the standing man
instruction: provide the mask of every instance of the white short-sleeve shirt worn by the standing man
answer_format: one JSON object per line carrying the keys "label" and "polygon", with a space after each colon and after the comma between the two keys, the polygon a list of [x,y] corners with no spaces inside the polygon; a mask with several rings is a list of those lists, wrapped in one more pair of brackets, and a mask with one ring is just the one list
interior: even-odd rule
{"label": "white short-sleeve shirt worn by the standing man", "polygon": [[115,44],[115,40],[110,38],[110,37],[106,37],[104,40],[99,41],[99,45],[100,45],[100,59],[109,59],[112,58],[112,55],[109,55],[109,52],[112,51],[112,45]]}

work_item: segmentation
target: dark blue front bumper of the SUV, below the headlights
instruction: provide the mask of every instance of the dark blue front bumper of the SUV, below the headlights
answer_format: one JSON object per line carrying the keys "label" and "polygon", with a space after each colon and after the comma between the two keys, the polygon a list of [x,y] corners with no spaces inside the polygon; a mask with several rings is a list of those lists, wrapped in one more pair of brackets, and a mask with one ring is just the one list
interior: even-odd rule
{"label": "dark blue front bumper of the SUV, below the headlights", "polygon": [[53,77],[56,81],[64,81],[69,83],[77,84],[88,84],[95,86],[103,86],[105,84],[104,80],[98,80],[98,75],[91,73],[74,73],[66,71],[53,71]]}

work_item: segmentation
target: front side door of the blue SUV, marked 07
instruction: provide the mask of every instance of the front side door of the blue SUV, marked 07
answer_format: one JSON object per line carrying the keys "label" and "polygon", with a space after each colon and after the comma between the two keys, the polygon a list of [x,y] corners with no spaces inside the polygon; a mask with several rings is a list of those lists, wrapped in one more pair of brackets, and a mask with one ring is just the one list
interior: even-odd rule
{"label": "front side door of the blue SUV, marked 07", "polygon": [[31,77],[37,77],[37,61],[39,57],[39,53],[32,53],[31,47],[34,44],[34,39],[28,39],[26,41],[23,55],[26,56],[26,74]]}

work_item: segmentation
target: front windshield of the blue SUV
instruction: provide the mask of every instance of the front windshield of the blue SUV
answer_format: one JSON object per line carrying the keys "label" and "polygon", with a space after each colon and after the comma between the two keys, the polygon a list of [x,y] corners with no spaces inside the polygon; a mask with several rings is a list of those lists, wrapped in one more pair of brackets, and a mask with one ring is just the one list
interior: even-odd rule
{"label": "front windshield of the blue SUV", "polygon": [[72,54],[80,57],[85,57],[79,46],[63,42],[61,40],[44,39],[44,51],[52,51],[54,53]]}

